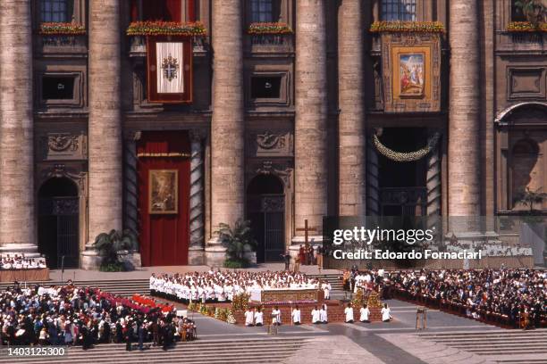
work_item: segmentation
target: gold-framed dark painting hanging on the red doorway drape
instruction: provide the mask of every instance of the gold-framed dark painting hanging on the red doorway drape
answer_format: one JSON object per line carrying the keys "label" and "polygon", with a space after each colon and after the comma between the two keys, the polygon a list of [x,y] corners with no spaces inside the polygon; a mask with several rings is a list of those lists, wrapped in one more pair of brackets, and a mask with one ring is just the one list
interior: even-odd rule
{"label": "gold-framed dark painting hanging on the red doorway drape", "polygon": [[178,170],[149,170],[148,203],[150,214],[178,213]]}

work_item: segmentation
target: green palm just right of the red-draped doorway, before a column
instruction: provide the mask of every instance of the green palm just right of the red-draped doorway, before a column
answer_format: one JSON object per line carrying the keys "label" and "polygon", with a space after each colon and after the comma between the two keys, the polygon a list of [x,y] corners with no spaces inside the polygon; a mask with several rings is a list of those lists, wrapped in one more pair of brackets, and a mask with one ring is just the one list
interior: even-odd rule
{"label": "green palm just right of the red-draped doorway, before a column", "polygon": [[250,221],[238,219],[233,228],[228,224],[219,224],[218,234],[226,248],[225,268],[247,268],[250,264],[249,253],[257,249],[257,241],[253,237]]}

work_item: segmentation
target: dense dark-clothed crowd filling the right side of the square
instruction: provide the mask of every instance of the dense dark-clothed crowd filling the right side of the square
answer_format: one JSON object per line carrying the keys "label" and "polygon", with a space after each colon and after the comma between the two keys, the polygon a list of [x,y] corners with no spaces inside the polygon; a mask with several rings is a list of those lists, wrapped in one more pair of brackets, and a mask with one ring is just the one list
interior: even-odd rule
{"label": "dense dark-clothed crowd filling the right side of the square", "polygon": [[[469,318],[498,319],[513,327],[547,320],[547,272],[539,269],[455,269],[392,272],[387,297],[464,308]],[[450,309],[450,307],[447,307]]]}

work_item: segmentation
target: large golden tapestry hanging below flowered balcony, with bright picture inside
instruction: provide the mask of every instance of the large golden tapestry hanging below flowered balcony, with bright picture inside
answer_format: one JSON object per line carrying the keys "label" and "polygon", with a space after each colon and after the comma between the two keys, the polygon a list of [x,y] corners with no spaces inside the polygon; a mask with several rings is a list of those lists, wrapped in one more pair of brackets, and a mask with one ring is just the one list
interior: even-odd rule
{"label": "large golden tapestry hanging below flowered balcony, with bright picture inside", "polygon": [[441,111],[438,34],[382,34],[384,112]]}

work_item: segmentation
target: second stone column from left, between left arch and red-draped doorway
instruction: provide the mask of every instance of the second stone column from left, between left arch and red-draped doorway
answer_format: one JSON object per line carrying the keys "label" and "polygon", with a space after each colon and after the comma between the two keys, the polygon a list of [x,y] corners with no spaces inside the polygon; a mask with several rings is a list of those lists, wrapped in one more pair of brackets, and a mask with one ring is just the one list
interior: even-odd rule
{"label": "second stone column from left, between left arch and red-draped doorway", "polygon": [[120,1],[89,2],[89,240],[122,228]]}

